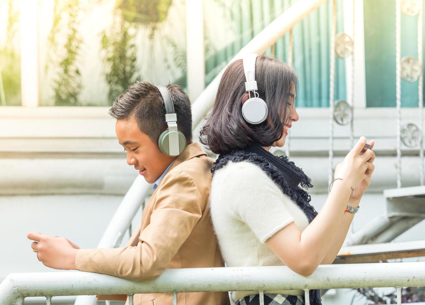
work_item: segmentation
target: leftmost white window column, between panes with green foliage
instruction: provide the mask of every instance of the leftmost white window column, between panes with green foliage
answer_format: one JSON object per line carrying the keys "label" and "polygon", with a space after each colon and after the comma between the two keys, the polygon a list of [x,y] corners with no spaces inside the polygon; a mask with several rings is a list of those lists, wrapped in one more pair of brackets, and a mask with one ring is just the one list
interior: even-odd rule
{"label": "leftmost white window column, between panes with green foliage", "polygon": [[40,104],[38,0],[20,0],[22,106]]}

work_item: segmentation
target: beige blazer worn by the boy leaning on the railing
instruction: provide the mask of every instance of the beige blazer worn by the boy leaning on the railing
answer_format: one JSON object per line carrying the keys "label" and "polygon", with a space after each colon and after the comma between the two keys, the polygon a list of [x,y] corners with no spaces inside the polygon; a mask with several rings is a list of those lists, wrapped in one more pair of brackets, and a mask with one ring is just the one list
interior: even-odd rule
{"label": "beige blazer worn by the boy leaning on the railing", "polygon": [[[77,269],[143,282],[164,269],[222,267],[209,211],[212,162],[199,144],[187,145],[150,197],[127,246],[79,249]],[[96,298],[124,301],[127,295]],[[180,305],[229,304],[227,292],[179,293],[177,299]],[[171,305],[173,295],[135,294],[134,304]]]}

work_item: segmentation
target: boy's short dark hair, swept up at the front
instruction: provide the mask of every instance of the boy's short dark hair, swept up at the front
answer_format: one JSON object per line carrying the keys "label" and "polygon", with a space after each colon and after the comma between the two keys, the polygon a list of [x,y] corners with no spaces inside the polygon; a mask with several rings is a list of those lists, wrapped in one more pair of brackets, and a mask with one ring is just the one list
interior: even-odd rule
{"label": "boy's short dark hair, swept up at the front", "polygon": [[[177,127],[192,142],[192,108],[189,97],[178,85],[167,85],[173,98],[174,110],[177,114]],[[137,81],[128,86],[113,102],[109,109],[115,119],[129,119],[134,116],[142,133],[158,143],[161,133],[168,128],[165,122],[165,105],[159,89],[152,83]]]}

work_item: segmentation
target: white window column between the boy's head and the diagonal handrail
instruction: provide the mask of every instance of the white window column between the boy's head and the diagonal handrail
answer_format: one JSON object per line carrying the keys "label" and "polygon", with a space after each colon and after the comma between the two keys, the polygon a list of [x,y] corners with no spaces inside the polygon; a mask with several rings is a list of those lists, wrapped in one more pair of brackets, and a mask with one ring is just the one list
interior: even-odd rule
{"label": "white window column between the boy's head and the diagonal handrail", "polygon": [[202,0],[186,0],[187,88],[193,101],[205,88],[203,3]]}

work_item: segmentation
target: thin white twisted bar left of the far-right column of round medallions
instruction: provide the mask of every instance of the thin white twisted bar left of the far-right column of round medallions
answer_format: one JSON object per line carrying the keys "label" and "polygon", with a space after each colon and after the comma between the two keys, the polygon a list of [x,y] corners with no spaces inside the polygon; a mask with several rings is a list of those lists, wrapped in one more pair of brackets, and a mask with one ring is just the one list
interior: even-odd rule
{"label": "thin white twisted bar left of the far-right column of round medallions", "polygon": [[400,128],[401,128],[401,36],[400,36],[400,0],[396,0],[396,106],[397,106],[397,188],[401,187],[401,150],[400,150]]}

